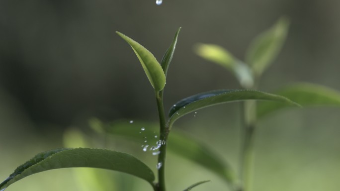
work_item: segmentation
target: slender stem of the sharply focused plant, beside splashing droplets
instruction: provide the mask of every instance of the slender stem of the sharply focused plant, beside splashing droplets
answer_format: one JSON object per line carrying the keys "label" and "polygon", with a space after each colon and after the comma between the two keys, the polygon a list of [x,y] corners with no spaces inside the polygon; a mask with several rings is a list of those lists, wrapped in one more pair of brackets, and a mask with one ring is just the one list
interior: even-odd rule
{"label": "slender stem of the sharply focused plant, beside splashing droplets", "polygon": [[[165,184],[165,160],[167,153],[169,127],[166,123],[164,106],[163,106],[163,91],[156,92],[156,101],[158,114],[160,118],[160,141],[162,142],[160,147],[160,154],[158,155],[158,184],[156,185],[157,191],[166,191]],[[164,144],[163,144],[164,143]]]}

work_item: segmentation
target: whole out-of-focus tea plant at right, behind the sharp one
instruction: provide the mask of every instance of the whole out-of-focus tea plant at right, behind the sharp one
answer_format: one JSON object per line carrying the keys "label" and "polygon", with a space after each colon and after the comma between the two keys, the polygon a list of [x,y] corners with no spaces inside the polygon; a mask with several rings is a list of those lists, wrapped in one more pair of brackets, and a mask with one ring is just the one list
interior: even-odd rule
{"label": "whole out-of-focus tea plant at right, behind the sharp one", "polygon": [[[285,17],[257,36],[246,53],[245,62],[229,51],[214,44],[197,44],[195,52],[202,58],[216,63],[232,72],[244,89],[256,90],[263,72],[279,53],[288,32],[289,22]],[[311,83],[295,83],[275,92],[302,106],[340,106],[340,93],[327,87]],[[240,159],[240,191],[251,191],[254,134],[257,120],[278,109],[289,106],[279,102],[245,101],[242,108],[243,148]]]}

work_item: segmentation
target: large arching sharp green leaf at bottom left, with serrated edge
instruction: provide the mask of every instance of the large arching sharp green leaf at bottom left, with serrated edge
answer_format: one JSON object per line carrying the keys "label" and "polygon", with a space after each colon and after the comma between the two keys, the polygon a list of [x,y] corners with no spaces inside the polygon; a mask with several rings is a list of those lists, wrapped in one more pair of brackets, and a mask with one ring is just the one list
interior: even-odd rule
{"label": "large arching sharp green leaf at bottom left, with serrated edge", "polygon": [[0,184],[3,191],[9,185],[27,176],[52,169],[71,167],[91,167],[120,171],[142,178],[153,185],[154,173],[135,157],[104,149],[56,149],[37,154],[19,166],[14,173]]}

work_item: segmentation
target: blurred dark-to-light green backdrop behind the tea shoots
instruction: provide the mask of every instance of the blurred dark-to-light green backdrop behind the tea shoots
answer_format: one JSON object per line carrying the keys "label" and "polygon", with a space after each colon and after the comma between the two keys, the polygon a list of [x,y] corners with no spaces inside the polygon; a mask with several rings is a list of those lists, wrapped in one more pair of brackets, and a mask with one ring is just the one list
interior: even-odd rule
{"label": "blurred dark-to-light green backdrop behind the tea shoots", "polygon": [[[287,41],[264,73],[260,90],[296,81],[340,90],[340,1],[335,0],[0,0],[0,179],[37,152],[63,147],[63,132],[86,130],[89,117],[157,121],[154,93],[120,31],[162,59],[176,29],[178,43],[167,77],[165,106],[203,91],[239,88],[219,66],[193,53],[214,43],[243,59],[251,40],[281,15],[290,18]],[[239,105],[199,111],[179,120],[237,169]],[[255,191],[338,191],[340,109],[285,110],[260,121],[255,143]],[[143,156],[140,145],[116,141],[111,149]],[[224,190],[205,169],[169,154],[168,187]],[[155,169],[155,167],[154,167]],[[113,173],[118,190],[150,190],[147,183]],[[179,176],[180,175],[180,176]],[[69,169],[44,172],[8,191],[76,191]],[[80,189],[81,190],[81,189]]]}

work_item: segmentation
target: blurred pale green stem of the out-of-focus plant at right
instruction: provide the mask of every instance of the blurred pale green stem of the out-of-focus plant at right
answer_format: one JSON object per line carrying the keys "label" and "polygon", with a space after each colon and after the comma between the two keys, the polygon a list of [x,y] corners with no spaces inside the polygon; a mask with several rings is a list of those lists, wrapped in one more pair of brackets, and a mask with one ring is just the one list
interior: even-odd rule
{"label": "blurred pale green stem of the out-of-focus plant at right", "polygon": [[242,189],[240,191],[251,191],[253,172],[253,149],[256,125],[256,102],[247,100],[242,104],[243,121],[243,145],[241,153],[240,178]]}

